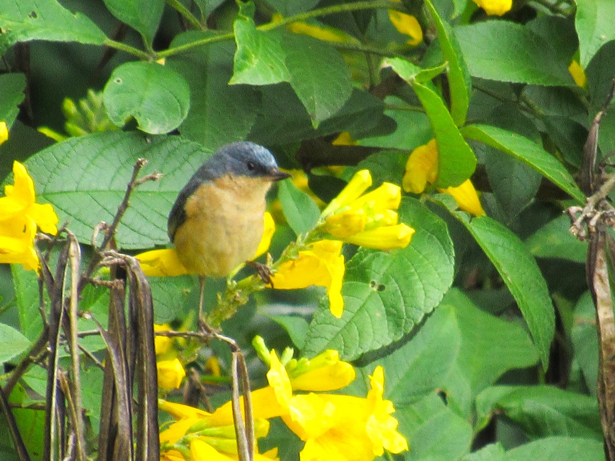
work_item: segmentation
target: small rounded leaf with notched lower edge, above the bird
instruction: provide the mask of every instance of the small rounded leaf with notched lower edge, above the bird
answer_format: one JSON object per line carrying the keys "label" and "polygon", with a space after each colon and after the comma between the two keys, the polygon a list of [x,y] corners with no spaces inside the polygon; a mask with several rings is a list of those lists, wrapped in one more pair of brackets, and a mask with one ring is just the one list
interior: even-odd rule
{"label": "small rounded leaf with notched lower edge, above the bird", "polygon": [[109,119],[118,127],[134,117],[141,130],[158,135],[175,130],[186,118],[190,89],[183,77],[167,66],[132,62],[114,69],[103,101]]}

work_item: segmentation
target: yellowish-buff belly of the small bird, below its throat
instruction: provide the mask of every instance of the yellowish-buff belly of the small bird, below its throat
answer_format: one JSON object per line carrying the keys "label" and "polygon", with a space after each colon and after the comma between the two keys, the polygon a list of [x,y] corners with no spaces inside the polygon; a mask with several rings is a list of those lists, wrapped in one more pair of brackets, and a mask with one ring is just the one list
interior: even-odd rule
{"label": "yellowish-buff belly of the small bird, below its throat", "polygon": [[191,273],[226,277],[253,258],[263,236],[263,212],[264,203],[249,208],[237,203],[199,207],[175,234],[180,261]]}

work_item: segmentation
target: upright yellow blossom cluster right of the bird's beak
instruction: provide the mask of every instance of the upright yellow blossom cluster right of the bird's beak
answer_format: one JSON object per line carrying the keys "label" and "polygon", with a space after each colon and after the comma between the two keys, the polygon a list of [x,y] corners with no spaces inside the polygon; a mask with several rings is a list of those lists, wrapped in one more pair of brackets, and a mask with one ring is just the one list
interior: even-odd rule
{"label": "upright yellow blossom cluster right of the bird's beak", "polygon": [[360,170],[321,215],[322,227],[332,237],[354,245],[392,250],[405,248],[415,230],[398,224],[397,210],[402,200],[399,186],[383,183],[363,194],[371,186],[368,170]]}

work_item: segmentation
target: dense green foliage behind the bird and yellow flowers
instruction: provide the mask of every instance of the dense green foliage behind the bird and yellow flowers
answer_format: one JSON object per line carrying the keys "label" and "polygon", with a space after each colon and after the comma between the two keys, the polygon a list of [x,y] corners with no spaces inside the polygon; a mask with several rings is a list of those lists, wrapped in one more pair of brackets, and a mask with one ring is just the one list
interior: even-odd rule
{"label": "dense green foliage behind the bird and yellow flowers", "polygon": [[[347,249],[341,319],[319,302],[322,290],[266,291],[224,332],[246,347],[261,334],[308,357],[338,349],[359,367],[357,395],[383,364],[385,396],[410,443],[396,459],[600,459],[585,244],[568,234],[561,211],[584,202],[573,178],[615,74],[615,3],[515,0],[502,18],[469,0],[182,2],[193,7],[189,17],[168,3],[0,0],[0,120],[10,127],[0,177],[25,161],[40,199],[87,253],[93,226],[112,218],[133,162],[146,157],[144,173],[164,178],[135,192],[117,234],[122,250],[136,252],[167,245],[178,190],[224,143],[256,141],[283,167],[311,170],[312,191],[327,201],[343,182],[322,167],[348,165],[344,178],[369,168],[375,184],[401,184],[408,154],[435,137],[435,185],[471,177],[488,216],[470,218],[447,195],[410,194],[399,211],[416,229],[408,248]],[[387,8],[416,15],[424,41],[405,44]],[[271,22],[275,12],[285,20]],[[296,21],[349,38],[295,34],[286,26]],[[164,66],[154,62],[161,58]],[[568,72],[573,59],[585,87]],[[63,99],[90,88],[103,90],[102,101],[83,101],[81,124],[73,113],[64,125]],[[83,126],[95,119],[124,129]],[[55,143],[36,131],[43,125],[85,135]],[[331,146],[339,132],[358,144]],[[615,149],[614,133],[607,114],[601,152]],[[274,256],[317,218],[312,199],[292,187],[277,191],[288,224]],[[0,270],[0,356],[17,363],[41,330],[36,276]],[[194,318],[194,278],[151,283],[158,323]],[[211,302],[221,288],[210,284]],[[106,295],[86,293],[82,309],[104,318]],[[96,338],[84,345],[104,347]],[[95,433],[101,374],[86,373]],[[44,395],[44,379],[33,368],[24,380]],[[33,395],[20,387],[11,399],[26,406]],[[41,411],[15,415],[36,454]],[[270,438],[285,447],[282,459],[296,457],[287,434]],[[2,459],[15,459],[9,437],[0,441]]]}

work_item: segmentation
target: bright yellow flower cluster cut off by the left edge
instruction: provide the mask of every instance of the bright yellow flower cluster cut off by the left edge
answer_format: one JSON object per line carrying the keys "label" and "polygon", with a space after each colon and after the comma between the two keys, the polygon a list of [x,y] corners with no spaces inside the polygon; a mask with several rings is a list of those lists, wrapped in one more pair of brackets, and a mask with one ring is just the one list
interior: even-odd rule
{"label": "bright yellow flower cluster cut off by the left edge", "polygon": [[[0,124],[0,144],[8,134],[6,124]],[[58,216],[49,203],[36,203],[34,181],[26,167],[13,162],[14,184],[4,186],[5,197],[0,197],[0,263],[22,264],[25,269],[39,269],[34,250],[36,228],[55,235]]]}

